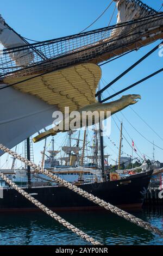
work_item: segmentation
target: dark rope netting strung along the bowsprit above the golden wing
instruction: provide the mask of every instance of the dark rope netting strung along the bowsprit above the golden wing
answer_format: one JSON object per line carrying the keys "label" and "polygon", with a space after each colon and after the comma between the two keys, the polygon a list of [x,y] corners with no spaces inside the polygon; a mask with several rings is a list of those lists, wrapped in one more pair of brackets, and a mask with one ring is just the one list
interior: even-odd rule
{"label": "dark rope netting strung along the bowsprit above the golden wing", "polygon": [[[88,62],[141,40],[149,30],[163,25],[163,14],[63,38],[0,51],[0,78],[27,76]],[[103,62],[103,59],[99,62]]]}

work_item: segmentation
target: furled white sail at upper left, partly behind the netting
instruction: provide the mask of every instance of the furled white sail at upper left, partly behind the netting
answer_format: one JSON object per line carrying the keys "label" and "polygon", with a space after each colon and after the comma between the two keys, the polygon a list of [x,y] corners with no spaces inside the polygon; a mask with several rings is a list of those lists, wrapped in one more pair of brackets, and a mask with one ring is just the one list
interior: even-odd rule
{"label": "furled white sail at upper left, partly behind the netting", "polygon": [[[5,20],[0,14],[0,43],[4,48],[13,48],[22,45],[26,45],[24,41],[11,31],[7,26],[5,26]],[[16,66],[27,66],[34,59],[34,54],[30,49],[22,51],[11,51],[9,53],[10,58],[15,61]]]}

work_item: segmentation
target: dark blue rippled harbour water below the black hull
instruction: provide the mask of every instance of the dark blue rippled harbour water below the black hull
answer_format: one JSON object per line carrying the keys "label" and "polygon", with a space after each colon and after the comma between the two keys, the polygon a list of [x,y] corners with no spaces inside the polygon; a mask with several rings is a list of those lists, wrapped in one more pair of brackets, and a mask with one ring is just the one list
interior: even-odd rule
{"label": "dark blue rippled harbour water below the black hull", "polygon": [[[59,214],[104,245],[163,245],[163,238],[108,211]],[[162,208],[146,208],[133,214],[163,230]],[[0,245],[89,245],[41,212],[0,215]]]}

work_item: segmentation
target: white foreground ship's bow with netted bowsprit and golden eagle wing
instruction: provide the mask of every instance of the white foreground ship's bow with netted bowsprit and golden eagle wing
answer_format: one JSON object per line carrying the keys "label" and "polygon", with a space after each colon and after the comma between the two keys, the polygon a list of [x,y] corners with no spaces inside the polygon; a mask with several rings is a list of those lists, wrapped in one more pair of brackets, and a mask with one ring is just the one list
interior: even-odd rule
{"label": "white foreground ship's bow with netted bowsprit and golden eagle wing", "polygon": [[1,143],[13,148],[51,125],[54,111],[95,102],[99,64],[162,39],[162,13],[139,0],[114,2],[116,25],[34,44],[1,16]]}

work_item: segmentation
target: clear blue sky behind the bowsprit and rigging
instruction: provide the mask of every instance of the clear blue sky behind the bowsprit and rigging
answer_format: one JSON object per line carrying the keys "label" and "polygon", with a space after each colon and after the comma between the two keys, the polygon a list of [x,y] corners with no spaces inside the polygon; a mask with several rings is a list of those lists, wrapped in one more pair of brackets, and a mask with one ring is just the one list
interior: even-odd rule
{"label": "clear blue sky behind the bowsprit and rigging", "polygon": [[[21,35],[34,39],[34,40],[47,40],[52,38],[58,38],[60,36],[71,35],[82,31],[85,27],[90,25],[97,16],[106,8],[110,1],[102,0],[8,0],[7,2],[1,2],[1,14],[6,22],[13,27]],[[143,0],[144,3],[158,10],[163,3],[162,0]],[[99,19],[95,25],[90,29],[101,28],[108,25],[115,3],[111,5],[108,11]],[[116,14],[112,19],[112,25],[116,23]],[[130,53],[129,55],[122,57],[110,64],[104,65],[102,68],[102,77],[106,82],[112,81],[117,75],[121,74],[131,64],[151,50],[155,44],[142,48],[137,52]],[[112,88],[109,89],[109,93],[118,91],[131,83],[151,74],[152,72],[162,68],[163,57],[158,56],[158,51],[154,52],[148,59],[143,61],[134,70],[124,76],[121,81],[118,81]],[[103,86],[103,84],[102,84]],[[124,94],[140,94],[142,100],[140,100],[132,108],[139,113],[139,115],[163,138],[162,127],[162,73],[151,78],[150,80],[143,82],[139,86],[130,89]],[[104,93],[103,96],[108,96],[108,93]],[[117,99],[117,98],[115,98]],[[130,108],[124,109],[123,114],[130,121],[130,123],[145,135],[150,141],[154,140],[154,143],[163,148],[163,141],[152,132],[137,115],[131,111]],[[123,119],[124,128],[128,131],[131,138],[133,138],[137,148],[141,153],[152,157],[152,144],[148,143],[142,138],[134,129],[130,126],[128,121],[124,119],[121,113],[117,114],[115,120],[118,125],[120,122],[118,119]],[[118,145],[119,130],[117,129],[114,121],[111,125],[111,139]],[[131,144],[131,139],[124,131],[124,135]],[[55,145],[59,148],[62,135],[55,137]],[[50,141],[51,139],[49,139]],[[108,148],[106,153],[112,154],[112,158],[117,157],[117,149],[109,141],[106,142],[112,149]],[[43,147],[43,143],[40,142],[34,145],[34,153],[36,162],[40,161],[40,150]],[[123,148],[128,154],[131,154],[129,145],[123,139]],[[114,150],[114,151],[112,151]],[[163,151],[155,148],[155,158],[163,162]]]}

